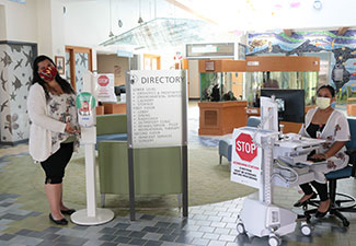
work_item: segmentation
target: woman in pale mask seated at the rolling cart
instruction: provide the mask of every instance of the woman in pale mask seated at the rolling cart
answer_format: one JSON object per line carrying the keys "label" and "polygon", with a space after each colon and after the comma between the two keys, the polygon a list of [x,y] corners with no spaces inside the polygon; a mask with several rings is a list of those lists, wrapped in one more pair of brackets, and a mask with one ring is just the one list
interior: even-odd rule
{"label": "woman in pale mask seated at the rolling cart", "polygon": [[[319,87],[315,101],[318,107],[308,110],[306,124],[299,131],[305,137],[326,140],[318,153],[310,153],[309,155],[312,161],[326,160],[328,162],[315,163],[310,166],[315,174],[315,180],[310,184],[317,189],[320,197],[317,218],[323,218],[331,206],[325,174],[341,169],[348,163],[348,155],[345,154],[345,144],[349,140],[348,122],[343,113],[333,109],[331,106],[334,101],[335,90],[331,85]],[[317,197],[310,184],[300,185],[305,196],[295,203],[295,207],[305,206],[310,199]]]}

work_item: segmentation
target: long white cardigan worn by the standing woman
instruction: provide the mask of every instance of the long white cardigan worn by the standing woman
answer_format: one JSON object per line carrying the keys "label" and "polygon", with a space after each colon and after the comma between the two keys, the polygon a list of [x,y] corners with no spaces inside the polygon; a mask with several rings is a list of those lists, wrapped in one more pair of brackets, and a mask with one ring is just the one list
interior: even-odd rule
{"label": "long white cardigan worn by the standing woman", "polygon": [[28,151],[36,162],[46,161],[51,155],[51,131],[65,132],[66,124],[48,116],[44,89],[35,83],[27,97],[30,127]]}

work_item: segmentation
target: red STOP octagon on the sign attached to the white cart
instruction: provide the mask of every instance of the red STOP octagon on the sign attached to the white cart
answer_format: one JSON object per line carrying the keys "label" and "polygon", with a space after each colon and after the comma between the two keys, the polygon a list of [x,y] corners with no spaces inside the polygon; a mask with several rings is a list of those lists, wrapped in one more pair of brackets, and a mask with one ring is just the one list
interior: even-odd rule
{"label": "red STOP octagon on the sign attached to the white cart", "polygon": [[251,162],[257,156],[257,147],[250,134],[241,133],[236,139],[236,151],[241,160]]}

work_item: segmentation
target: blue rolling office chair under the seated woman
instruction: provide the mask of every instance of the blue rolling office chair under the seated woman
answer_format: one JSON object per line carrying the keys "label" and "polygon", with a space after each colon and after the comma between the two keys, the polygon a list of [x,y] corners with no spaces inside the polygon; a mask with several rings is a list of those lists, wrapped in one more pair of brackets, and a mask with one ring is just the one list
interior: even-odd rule
{"label": "blue rolling office chair under the seated woman", "polygon": [[[347,142],[347,154],[349,155],[349,163],[346,167],[330,172],[325,175],[329,181],[329,197],[331,199],[330,214],[337,216],[344,226],[348,226],[348,220],[342,214],[342,212],[356,212],[356,199],[346,194],[337,194],[336,185],[338,179],[349,178],[356,176],[356,119],[347,119],[352,139]],[[353,138],[354,137],[354,138]],[[340,197],[336,199],[336,197]],[[311,200],[311,206],[318,207],[319,201]],[[309,221],[311,214],[315,213],[318,209],[305,211],[305,215]]]}

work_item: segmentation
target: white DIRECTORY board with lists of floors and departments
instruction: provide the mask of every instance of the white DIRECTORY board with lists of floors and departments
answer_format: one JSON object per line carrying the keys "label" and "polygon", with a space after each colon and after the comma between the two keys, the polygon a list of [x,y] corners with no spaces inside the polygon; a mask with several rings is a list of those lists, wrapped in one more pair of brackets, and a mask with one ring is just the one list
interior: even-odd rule
{"label": "white DIRECTORY board with lists of floors and departments", "polygon": [[185,71],[130,71],[128,80],[126,93],[133,148],[182,145]]}

